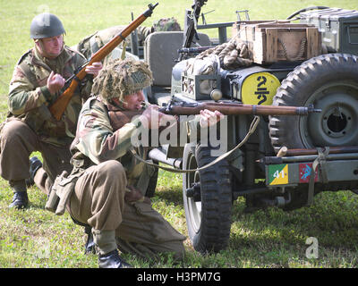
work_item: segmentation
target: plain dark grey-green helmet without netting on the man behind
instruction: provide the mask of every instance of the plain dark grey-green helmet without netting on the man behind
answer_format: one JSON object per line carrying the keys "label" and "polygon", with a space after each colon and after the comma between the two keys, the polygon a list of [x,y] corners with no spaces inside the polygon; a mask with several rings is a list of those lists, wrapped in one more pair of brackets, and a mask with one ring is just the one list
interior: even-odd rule
{"label": "plain dark grey-green helmet without netting on the man behind", "polygon": [[62,21],[51,13],[41,13],[34,17],[30,25],[30,38],[51,38],[65,34]]}

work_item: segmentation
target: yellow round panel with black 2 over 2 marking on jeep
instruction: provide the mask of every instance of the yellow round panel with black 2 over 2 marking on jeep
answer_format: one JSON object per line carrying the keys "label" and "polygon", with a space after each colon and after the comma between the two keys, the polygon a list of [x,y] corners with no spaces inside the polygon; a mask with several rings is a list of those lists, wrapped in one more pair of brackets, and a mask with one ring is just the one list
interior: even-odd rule
{"label": "yellow round panel with black 2 over 2 marking on jeep", "polygon": [[245,105],[272,105],[277,88],[281,85],[269,72],[257,72],[243,80],[241,98]]}

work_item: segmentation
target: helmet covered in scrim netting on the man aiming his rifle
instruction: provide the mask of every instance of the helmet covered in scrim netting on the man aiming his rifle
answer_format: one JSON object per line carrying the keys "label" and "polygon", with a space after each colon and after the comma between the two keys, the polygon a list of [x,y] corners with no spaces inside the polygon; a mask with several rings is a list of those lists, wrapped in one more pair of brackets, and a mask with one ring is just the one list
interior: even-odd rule
{"label": "helmet covered in scrim netting on the man aiming his rifle", "polygon": [[108,104],[110,99],[132,95],[153,82],[152,73],[147,63],[132,58],[116,59],[98,73],[93,80],[92,94]]}

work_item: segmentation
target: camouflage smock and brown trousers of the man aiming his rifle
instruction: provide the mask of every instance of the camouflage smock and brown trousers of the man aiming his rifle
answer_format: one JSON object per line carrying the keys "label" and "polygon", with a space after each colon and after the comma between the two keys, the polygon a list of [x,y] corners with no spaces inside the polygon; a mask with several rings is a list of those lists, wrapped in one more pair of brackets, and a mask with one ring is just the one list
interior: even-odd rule
{"label": "camouflage smock and brown trousers of the man aiming his rifle", "polygon": [[[181,258],[185,237],[146,200],[125,199],[130,186],[143,181],[143,173],[146,173],[143,172],[145,166],[128,153],[131,136],[141,127],[141,121],[134,119],[123,126],[114,126],[111,111],[120,112],[121,108],[104,104],[98,97],[90,97],[83,105],[71,147],[72,173],[56,181],[54,189],[61,198],[66,185],[72,184],[67,210],[77,221],[90,224],[95,241],[101,236],[100,254],[119,248],[124,253],[144,257],[174,252],[176,258]],[[60,201],[59,206],[64,204]],[[61,213],[59,206],[57,212]],[[106,240],[108,233],[112,233],[109,236],[115,236],[115,240],[111,237]]]}

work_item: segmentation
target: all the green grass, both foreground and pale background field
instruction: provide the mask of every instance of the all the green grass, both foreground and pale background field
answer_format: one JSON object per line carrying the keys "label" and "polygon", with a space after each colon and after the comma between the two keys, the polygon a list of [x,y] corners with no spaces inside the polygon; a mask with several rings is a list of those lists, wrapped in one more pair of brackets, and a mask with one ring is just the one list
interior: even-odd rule
{"label": "all the green grass, both foreground and pale background field", "polygon": [[[0,0],[0,120],[7,111],[8,84],[13,66],[33,44],[30,21],[41,12],[55,13],[64,23],[65,42],[75,45],[98,29],[126,24],[144,12],[149,1],[4,1]],[[153,2],[154,4],[154,2]],[[175,16],[183,27],[184,8],[192,1],[166,0],[159,5],[150,26],[161,17]],[[286,19],[295,11],[312,5],[357,9],[356,0],[314,1],[209,0],[203,12],[208,22],[235,21],[236,10],[248,9],[251,20]],[[210,37],[217,37],[209,30]],[[29,190],[30,207],[9,209],[13,193],[0,179],[0,267],[98,267],[96,255],[84,255],[83,228],[72,223],[68,214],[56,216],[44,210],[46,196],[35,187]],[[183,211],[181,175],[159,172],[153,206],[187,236]],[[185,240],[186,258],[173,265],[169,260],[148,262],[124,256],[134,267],[342,267],[358,266],[358,196],[350,191],[320,193],[314,204],[286,213],[268,208],[243,213],[244,200],[234,202],[229,247],[220,253],[201,256]],[[318,258],[307,258],[309,237],[317,238]],[[164,262],[165,261],[165,262]]]}

